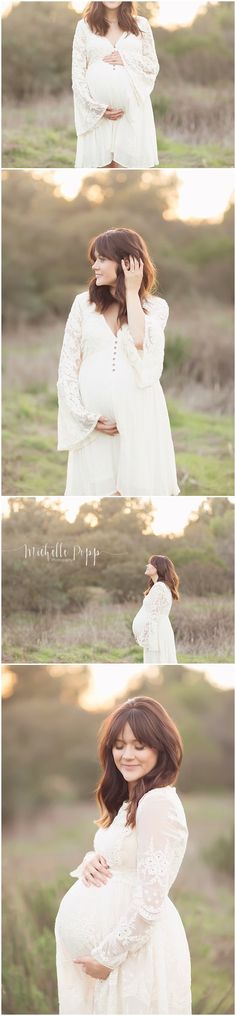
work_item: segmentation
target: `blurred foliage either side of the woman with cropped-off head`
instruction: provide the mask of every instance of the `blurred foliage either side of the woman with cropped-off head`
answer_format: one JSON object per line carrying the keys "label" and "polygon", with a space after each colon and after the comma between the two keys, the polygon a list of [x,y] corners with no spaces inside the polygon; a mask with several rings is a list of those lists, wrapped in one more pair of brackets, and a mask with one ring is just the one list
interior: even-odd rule
{"label": "blurred foliage either side of the woman with cropped-off head", "polygon": [[[139,4],[150,18],[157,9]],[[57,94],[70,87],[72,38],[79,15],[68,3],[29,2],[13,7],[3,19],[3,96],[18,101],[41,92]],[[233,84],[234,4],[224,0],[195,18],[192,25],[168,31],[154,26],[164,79],[220,86]],[[158,84],[154,96],[158,94]]]}

